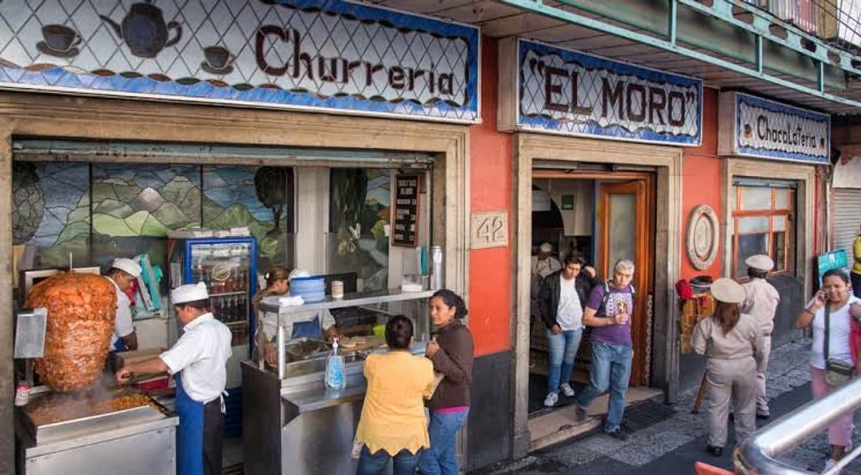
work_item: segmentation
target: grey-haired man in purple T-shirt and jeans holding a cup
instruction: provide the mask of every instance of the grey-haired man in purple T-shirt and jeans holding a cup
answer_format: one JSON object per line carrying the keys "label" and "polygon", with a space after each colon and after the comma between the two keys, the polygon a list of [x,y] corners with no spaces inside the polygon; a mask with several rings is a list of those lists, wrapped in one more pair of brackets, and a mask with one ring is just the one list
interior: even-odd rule
{"label": "grey-haired man in purple T-shirt and jeans holding a cup", "polygon": [[628,440],[621,425],[634,357],[630,324],[634,312],[633,278],[634,262],[620,260],[613,266],[612,279],[593,288],[586,301],[583,324],[592,327],[592,372],[589,386],[577,394],[574,411],[578,422],[585,421],[586,408],[592,400],[610,389],[604,433],[620,441]]}

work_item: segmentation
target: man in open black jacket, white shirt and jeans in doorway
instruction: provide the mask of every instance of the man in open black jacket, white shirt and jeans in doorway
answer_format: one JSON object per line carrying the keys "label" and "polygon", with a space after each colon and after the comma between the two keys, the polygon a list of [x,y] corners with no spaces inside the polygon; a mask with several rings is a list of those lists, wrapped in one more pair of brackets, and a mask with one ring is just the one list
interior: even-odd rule
{"label": "man in open black jacket, white shirt and jeans in doorway", "polygon": [[583,308],[594,281],[583,270],[583,259],[569,254],[562,269],[548,275],[538,293],[538,308],[547,327],[548,394],[544,405],[553,407],[561,391],[574,395],[571,372],[583,336]]}

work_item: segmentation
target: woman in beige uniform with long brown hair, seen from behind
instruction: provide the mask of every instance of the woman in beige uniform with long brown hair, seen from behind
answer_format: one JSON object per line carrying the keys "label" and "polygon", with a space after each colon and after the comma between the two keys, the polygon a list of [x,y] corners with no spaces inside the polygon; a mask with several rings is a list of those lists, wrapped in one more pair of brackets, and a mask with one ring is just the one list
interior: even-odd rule
{"label": "woman in beige uniform with long brown hair, seen from behind", "polygon": [[735,439],[746,440],[756,430],[757,384],[753,375],[762,358],[762,330],[756,318],[740,311],[745,289],[732,279],[711,286],[717,306],[691,336],[697,355],[706,355],[709,380],[709,453],[720,457],[727,443],[727,419],[732,401]]}

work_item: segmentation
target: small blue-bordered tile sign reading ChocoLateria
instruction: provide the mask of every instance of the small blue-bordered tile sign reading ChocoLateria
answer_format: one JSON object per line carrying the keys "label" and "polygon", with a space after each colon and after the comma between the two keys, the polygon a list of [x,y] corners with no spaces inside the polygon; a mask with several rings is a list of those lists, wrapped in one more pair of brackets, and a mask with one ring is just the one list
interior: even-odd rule
{"label": "small blue-bordered tile sign reading ChocoLateria", "polygon": [[740,92],[721,94],[724,155],[829,163],[831,117]]}

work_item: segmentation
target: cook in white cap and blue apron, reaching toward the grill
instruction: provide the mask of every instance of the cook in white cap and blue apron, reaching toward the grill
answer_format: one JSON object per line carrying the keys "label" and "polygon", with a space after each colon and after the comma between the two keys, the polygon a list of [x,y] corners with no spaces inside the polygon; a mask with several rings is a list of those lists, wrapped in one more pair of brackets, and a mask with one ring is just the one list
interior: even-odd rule
{"label": "cook in white cap and blue apron, reaching toward the grill", "polygon": [[146,361],[129,363],[116,373],[118,383],[133,373],[170,373],[177,381],[177,474],[221,473],[221,428],[231,355],[231,333],[209,312],[209,294],[202,282],[170,293],[183,336],[167,351]]}

